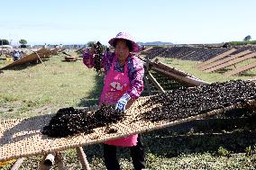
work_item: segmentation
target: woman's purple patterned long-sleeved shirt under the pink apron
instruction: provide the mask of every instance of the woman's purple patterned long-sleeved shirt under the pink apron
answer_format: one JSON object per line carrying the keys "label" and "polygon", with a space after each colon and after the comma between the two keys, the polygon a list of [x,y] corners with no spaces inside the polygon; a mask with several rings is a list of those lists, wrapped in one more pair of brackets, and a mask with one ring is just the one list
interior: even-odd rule
{"label": "woman's purple patterned long-sleeved shirt under the pink apron", "polygon": [[[105,52],[104,57],[102,58],[102,66],[104,67],[105,76],[110,70],[110,67],[114,63],[114,70],[118,72],[123,72],[124,67],[121,67],[117,59],[114,60],[114,53],[112,52]],[[89,55],[88,51],[86,50],[83,54],[83,61],[84,64],[91,68],[94,67],[94,57]],[[143,91],[143,76],[144,76],[144,67],[142,60],[140,58],[134,57],[131,54],[125,61],[128,67],[128,77],[130,80],[131,88],[126,92],[129,94],[133,100],[137,99]]]}

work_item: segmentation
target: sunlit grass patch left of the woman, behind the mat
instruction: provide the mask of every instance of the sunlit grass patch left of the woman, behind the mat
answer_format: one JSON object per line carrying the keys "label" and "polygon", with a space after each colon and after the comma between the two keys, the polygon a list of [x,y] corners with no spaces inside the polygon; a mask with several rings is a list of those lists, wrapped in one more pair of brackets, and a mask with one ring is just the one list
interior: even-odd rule
{"label": "sunlit grass patch left of the woman, behind the mat", "polygon": [[103,77],[85,67],[81,60],[64,62],[54,56],[44,65],[15,67],[0,74],[0,106],[16,107],[15,101],[22,101],[16,112],[2,114],[1,119],[35,116],[36,112],[28,112],[50,103],[51,112],[62,107],[87,106],[83,99],[99,97],[100,91],[95,92],[95,88],[96,84],[103,84]]}

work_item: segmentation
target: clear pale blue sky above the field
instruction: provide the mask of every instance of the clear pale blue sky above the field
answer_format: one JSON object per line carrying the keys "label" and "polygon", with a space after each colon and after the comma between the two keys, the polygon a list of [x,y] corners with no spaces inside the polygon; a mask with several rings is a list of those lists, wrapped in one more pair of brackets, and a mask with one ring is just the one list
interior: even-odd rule
{"label": "clear pale blue sky above the field", "polygon": [[256,40],[255,7],[255,0],[1,0],[0,39],[107,44],[128,31],[142,42]]}

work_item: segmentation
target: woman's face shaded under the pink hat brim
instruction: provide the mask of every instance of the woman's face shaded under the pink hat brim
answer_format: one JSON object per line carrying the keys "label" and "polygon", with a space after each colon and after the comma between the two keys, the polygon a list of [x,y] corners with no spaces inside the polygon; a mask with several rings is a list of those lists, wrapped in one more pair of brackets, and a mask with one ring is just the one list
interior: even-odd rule
{"label": "woman's face shaded under the pink hat brim", "polygon": [[129,56],[130,50],[126,45],[126,40],[116,40],[114,53],[117,58],[121,60],[126,59]]}

